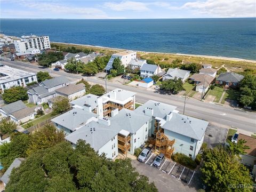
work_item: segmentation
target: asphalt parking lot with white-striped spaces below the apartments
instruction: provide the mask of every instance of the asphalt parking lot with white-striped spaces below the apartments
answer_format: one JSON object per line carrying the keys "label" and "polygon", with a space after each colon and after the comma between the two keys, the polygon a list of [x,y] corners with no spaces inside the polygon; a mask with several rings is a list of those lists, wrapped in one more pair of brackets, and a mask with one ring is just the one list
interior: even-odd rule
{"label": "asphalt parking lot with white-striped spaces below the apartments", "polygon": [[[190,170],[188,167],[182,166],[167,158],[164,159],[159,167],[155,167],[153,162],[156,156],[156,154],[151,153],[146,162],[140,163],[134,160],[135,162],[133,164],[140,173],[142,172],[141,174],[145,174],[151,181],[155,182],[159,191],[186,191],[188,188],[190,191],[191,189],[196,190],[200,188],[201,183],[197,171]],[[159,180],[159,177],[153,174],[156,171],[157,175],[161,175],[164,178],[163,180],[168,180],[165,181],[169,185],[168,187],[166,186],[166,189],[163,186],[163,180]]]}

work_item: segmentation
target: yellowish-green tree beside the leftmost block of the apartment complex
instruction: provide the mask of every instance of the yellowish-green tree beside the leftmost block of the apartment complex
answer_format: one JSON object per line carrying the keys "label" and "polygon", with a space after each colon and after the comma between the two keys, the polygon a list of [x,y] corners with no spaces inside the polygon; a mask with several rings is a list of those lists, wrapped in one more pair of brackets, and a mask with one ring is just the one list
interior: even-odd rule
{"label": "yellowish-green tree beside the leftmost block of the apartment complex", "polygon": [[31,135],[27,154],[29,155],[39,149],[53,147],[63,141],[65,141],[63,131],[57,130],[54,125],[45,125]]}

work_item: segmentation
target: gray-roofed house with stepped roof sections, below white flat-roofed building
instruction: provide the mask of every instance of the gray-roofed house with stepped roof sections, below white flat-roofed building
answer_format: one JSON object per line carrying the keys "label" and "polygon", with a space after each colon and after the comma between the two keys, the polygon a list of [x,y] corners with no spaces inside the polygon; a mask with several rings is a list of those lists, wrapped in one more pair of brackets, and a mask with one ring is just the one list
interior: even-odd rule
{"label": "gray-roofed house with stepped roof sections, below white flat-roofed building", "polygon": [[35,104],[48,102],[48,99],[56,96],[55,90],[68,85],[68,82],[68,79],[63,76],[46,79],[38,86],[27,91],[29,102]]}

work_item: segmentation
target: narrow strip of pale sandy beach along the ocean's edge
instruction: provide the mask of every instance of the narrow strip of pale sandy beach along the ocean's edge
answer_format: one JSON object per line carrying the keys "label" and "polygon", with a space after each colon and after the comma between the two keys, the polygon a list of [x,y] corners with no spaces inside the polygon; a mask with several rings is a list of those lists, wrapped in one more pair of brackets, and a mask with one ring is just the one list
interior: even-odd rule
{"label": "narrow strip of pale sandy beach along the ocean's edge", "polygon": [[[86,44],[77,44],[77,43],[63,43],[63,42],[51,42],[51,43],[59,43],[63,45],[77,45],[77,46],[85,46],[85,47],[95,47],[100,49],[109,49],[113,51],[123,51],[127,49],[119,49],[119,48],[112,48],[112,47],[105,47],[105,46],[97,46],[97,45],[86,45]],[[250,59],[241,59],[241,58],[229,58],[229,57],[219,57],[219,56],[212,56],[212,55],[200,55],[200,54],[186,54],[186,53],[163,53],[163,52],[148,52],[148,51],[139,51],[134,50],[137,52],[141,52],[143,54],[149,54],[149,53],[156,53],[156,54],[169,54],[169,55],[179,55],[179,56],[186,56],[186,57],[198,57],[198,58],[208,58],[208,59],[220,59],[220,60],[228,60],[228,61],[240,61],[240,62],[250,62],[250,63],[256,63],[256,60],[250,60]]]}

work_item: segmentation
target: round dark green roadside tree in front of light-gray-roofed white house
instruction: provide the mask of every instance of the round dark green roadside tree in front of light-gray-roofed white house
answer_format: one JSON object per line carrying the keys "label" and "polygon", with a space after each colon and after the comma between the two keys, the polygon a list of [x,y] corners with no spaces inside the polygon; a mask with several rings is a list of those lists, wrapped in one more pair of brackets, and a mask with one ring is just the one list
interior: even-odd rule
{"label": "round dark green roadside tree in front of light-gray-roofed white house", "polygon": [[183,90],[182,85],[183,83],[181,79],[174,78],[174,79],[168,79],[166,81],[163,81],[160,87],[165,91],[170,91],[176,94]]}

